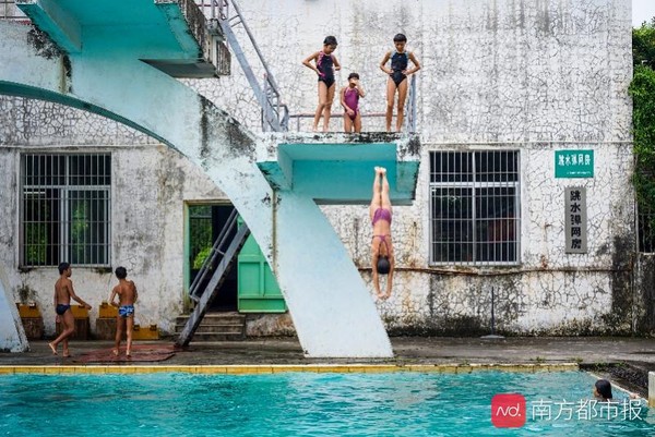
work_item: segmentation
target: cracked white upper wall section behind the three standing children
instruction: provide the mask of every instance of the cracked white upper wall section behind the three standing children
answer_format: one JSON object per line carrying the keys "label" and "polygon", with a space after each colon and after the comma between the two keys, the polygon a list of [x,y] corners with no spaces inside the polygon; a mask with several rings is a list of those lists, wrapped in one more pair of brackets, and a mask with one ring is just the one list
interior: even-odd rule
{"label": "cracked white upper wall section behind the three standing children", "polygon": [[[340,43],[335,56],[343,69],[336,73],[336,89],[356,71],[368,92],[360,101],[362,113],[384,111],[386,75],[379,63],[394,49],[393,36],[403,32],[407,48],[422,64],[417,85],[424,143],[630,141],[630,2],[242,3],[291,114],[315,110],[317,75],[301,61],[322,49],[326,35]],[[239,27],[236,32],[242,36]],[[257,62],[252,66],[263,77]],[[258,130],[260,112],[236,59],[233,75],[221,77],[219,87],[214,82],[190,81]],[[332,129],[341,130],[343,111],[336,98],[332,109],[337,116]],[[382,126],[380,120],[364,120],[365,131]]]}

